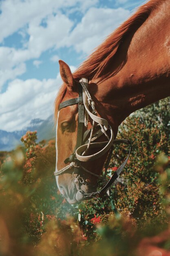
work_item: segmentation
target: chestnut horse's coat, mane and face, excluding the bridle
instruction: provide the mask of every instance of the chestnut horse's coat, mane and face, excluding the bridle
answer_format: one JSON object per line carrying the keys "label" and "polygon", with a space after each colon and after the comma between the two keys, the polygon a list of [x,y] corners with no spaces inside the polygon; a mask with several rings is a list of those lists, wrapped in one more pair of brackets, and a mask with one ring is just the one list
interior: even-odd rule
{"label": "chestnut horse's coat, mane and face, excluding the bridle", "polygon": [[[81,78],[88,79],[88,92],[95,102],[97,116],[108,122],[114,137],[130,113],[170,95],[170,0],[150,0],[141,6],[73,74],[64,61],[59,64],[63,84],[55,100],[55,173],[67,166],[64,161],[75,150],[79,118],[77,104],[60,111],[58,107],[79,97]],[[83,132],[91,127],[90,118]],[[97,141],[104,138],[102,135]],[[101,174],[108,152],[91,162],[81,162],[89,171],[88,184],[79,184],[82,193],[76,176],[73,177],[74,167],[56,176],[57,186],[69,203],[84,200],[84,193],[95,191],[97,177],[91,173]],[[88,155],[94,153],[96,149],[89,148]]]}

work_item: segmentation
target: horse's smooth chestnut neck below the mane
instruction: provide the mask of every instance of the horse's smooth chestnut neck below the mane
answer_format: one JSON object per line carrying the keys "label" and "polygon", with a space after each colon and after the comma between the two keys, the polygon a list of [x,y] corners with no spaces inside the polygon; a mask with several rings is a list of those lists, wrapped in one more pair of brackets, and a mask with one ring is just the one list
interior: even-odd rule
{"label": "horse's smooth chestnut neck below the mane", "polygon": [[170,95],[169,31],[170,1],[165,0],[124,42],[122,51],[128,45],[124,67],[99,85],[104,95],[99,101],[107,102],[106,108],[113,106],[113,115],[119,116],[118,125],[135,110]]}

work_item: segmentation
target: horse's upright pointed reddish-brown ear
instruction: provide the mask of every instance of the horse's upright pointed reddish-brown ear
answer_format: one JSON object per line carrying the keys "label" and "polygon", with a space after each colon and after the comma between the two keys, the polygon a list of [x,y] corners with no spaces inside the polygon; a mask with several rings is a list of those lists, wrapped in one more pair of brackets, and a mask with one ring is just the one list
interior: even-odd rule
{"label": "horse's upright pointed reddish-brown ear", "polygon": [[60,75],[68,90],[73,91],[73,76],[70,67],[62,60],[58,61],[60,65]]}

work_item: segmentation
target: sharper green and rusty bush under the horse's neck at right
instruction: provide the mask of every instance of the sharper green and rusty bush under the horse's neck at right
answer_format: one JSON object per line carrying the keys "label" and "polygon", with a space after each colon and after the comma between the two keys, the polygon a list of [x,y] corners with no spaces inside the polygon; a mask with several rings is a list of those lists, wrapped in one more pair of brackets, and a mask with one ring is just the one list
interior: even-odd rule
{"label": "sharper green and rusty bush under the horse's neck at right", "polygon": [[[161,153],[170,155],[170,98],[159,101],[128,117],[118,137],[132,142],[132,153],[121,181],[116,185],[117,207],[135,218],[162,216],[158,173],[153,166]],[[118,166],[127,155],[116,147],[111,166]]]}

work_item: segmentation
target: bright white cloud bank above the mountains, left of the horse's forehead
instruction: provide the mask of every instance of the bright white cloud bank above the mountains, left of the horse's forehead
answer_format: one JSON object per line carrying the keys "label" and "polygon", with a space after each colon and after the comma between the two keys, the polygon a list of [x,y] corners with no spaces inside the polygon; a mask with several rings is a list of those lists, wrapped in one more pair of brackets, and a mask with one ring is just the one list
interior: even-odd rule
{"label": "bright white cloud bank above the mountains, left of the horse's forehead", "polygon": [[31,119],[52,115],[61,84],[60,74],[56,79],[15,79],[9,83],[7,91],[0,94],[0,130],[21,130]]}

